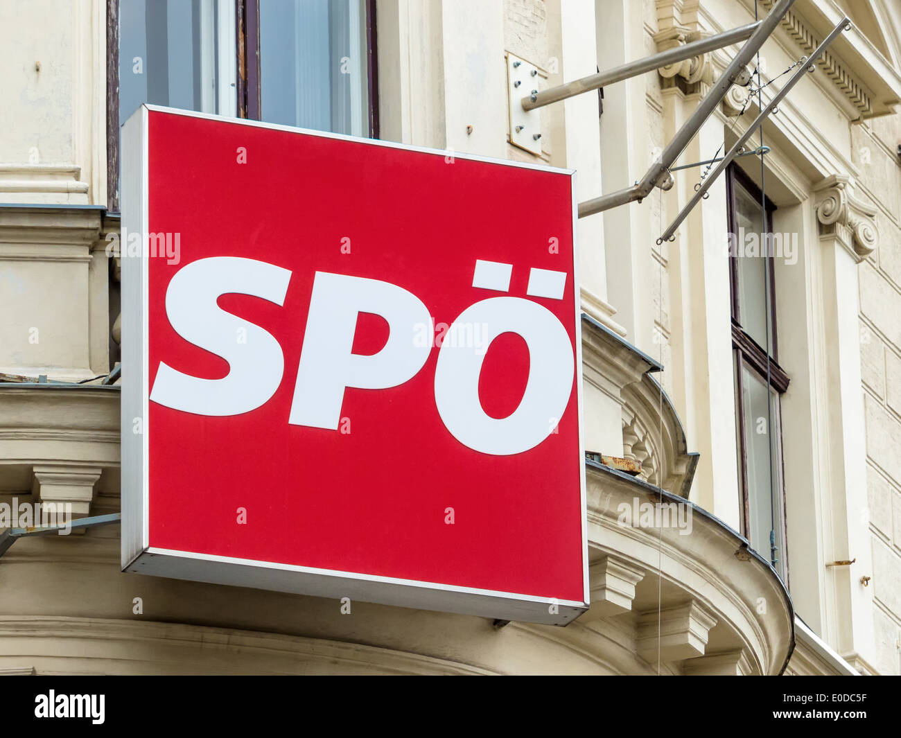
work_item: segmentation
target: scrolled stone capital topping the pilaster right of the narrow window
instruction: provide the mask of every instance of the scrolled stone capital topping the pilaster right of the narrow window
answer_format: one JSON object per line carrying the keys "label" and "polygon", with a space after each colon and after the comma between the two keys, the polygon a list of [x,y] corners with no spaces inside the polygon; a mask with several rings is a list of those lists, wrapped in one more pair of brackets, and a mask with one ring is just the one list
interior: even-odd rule
{"label": "scrolled stone capital topping the pilaster right of the narrow window", "polygon": [[878,246],[876,208],[854,196],[853,180],[846,175],[825,178],[814,187],[820,241],[837,241],[857,263]]}

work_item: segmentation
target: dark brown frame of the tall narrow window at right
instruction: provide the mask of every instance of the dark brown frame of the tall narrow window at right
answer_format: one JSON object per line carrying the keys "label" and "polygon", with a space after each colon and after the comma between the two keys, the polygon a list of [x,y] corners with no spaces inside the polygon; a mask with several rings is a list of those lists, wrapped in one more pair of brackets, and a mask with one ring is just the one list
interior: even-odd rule
{"label": "dark brown frame of the tall narrow window at right", "polygon": [[[737,200],[735,196],[736,187],[743,187],[756,202],[764,205],[764,228],[767,234],[773,232],[773,213],[776,211],[776,205],[763,195],[754,181],[737,165],[733,164],[726,170],[726,216],[729,226],[729,232],[738,233],[738,214]],[[741,484],[741,505],[742,505],[742,535],[751,541],[750,519],[751,507],[748,495],[748,453],[747,443],[744,434],[744,398],[742,372],[743,369],[751,369],[751,372],[760,379],[763,385],[768,384],[767,369],[768,356],[763,346],[749,335],[742,328],[741,311],[739,309],[739,278],[738,278],[738,257],[736,254],[729,255],[729,288],[732,306],[732,345],[735,366],[735,412],[738,415],[736,430],[738,434],[740,460],[739,481]],[[775,256],[769,253],[766,257],[768,261],[767,271],[769,274],[769,305],[768,316],[770,326],[770,352],[769,352],[769,387],[776,391],[777,395],[777,416],[771,419],[771,427],[768,431],[770,434],[775,433],[777,459],[776,473],[778,478],[778,506],[781,508],[780,522],[782,527],[782,551],[778,551],[777,570],[781,570],[785,580],[788,580],[788,560],[787,560],[787,516],[786,516],[786,495],[785,495],[785,475],[782,460],[782,409],[781,396],[786,392],[790,378],[785,369],[778,364],[778,324],[776,320],[776,277],[775,277]],[[766,298],[765,298],[766,299]],[[771,551],[758,551],[768,560],[772,560]]]}

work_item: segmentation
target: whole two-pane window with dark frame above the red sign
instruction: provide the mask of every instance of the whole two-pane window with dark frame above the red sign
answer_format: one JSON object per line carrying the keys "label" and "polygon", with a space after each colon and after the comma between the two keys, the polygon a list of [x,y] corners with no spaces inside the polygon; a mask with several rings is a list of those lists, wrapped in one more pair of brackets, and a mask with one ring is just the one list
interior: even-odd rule
{"label": "whole two-pane window with dark frame above the red sign", "polygon": [[375,0],[107,0],[108,208],[142,103],[378,137]]}

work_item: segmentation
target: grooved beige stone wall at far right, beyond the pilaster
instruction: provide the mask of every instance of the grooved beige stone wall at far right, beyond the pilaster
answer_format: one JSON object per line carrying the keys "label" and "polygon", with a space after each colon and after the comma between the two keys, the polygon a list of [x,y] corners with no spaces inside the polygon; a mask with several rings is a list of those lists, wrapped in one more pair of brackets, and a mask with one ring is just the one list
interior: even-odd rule
{"label": "grooved beige stone wall at far right, beyond the pilaster", "polygon": [[860,189],[878,207],[879,247],[860,266],[860,374],[867,433],[878,667],[901,673],[901,116],[851,128]]}

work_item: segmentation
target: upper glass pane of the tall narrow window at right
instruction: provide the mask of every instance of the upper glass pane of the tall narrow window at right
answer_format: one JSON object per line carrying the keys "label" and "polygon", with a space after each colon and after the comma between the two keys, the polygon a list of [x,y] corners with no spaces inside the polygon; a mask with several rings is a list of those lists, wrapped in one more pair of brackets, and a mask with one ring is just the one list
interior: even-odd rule
{"label": "upper glass pane of the tall narrow window at right", "polygon": [[[738,266],[739,322],[745,333],[764,349],[767,344],[766,226],[760,201],[735,183],[735,223],[738,227],[736,262]],[[770,331],[772,326],[770,326]],[[772,343],[772,333],[770,343]]]}

